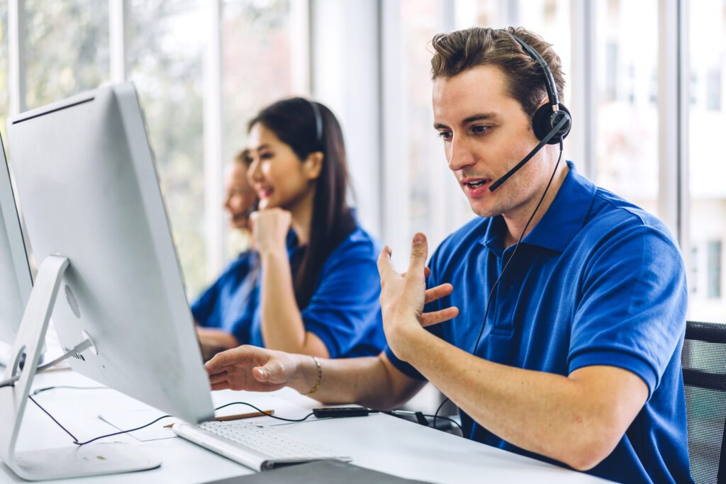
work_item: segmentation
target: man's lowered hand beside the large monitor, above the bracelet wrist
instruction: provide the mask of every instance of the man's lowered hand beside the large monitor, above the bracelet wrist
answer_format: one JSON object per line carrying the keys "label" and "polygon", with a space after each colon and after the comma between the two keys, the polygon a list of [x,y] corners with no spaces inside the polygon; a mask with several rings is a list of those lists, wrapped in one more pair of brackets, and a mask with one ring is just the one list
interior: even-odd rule
{"label": "man's lowered hand beside the large monitor, above the bracelet wrist", "polygon": [[204,366],[212,390],[271,392],[300,380],[299,361],[290,353],[242,345],[217,353]]}

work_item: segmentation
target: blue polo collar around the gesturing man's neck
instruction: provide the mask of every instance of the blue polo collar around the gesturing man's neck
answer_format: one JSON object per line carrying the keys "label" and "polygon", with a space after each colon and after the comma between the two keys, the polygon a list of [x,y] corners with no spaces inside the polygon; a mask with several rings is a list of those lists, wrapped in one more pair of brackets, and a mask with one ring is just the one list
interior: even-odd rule
{"label": "blue polo collar around the gesturing man's neck", "polygon": [[[567,165],[569,171],[555,200],[534,229],[524,237],[523,244],[562,252],[584,226],[597,187],[577,173],[574,163],[568,161]],[[484,247],[499,257],[502,255],[504,231],[504,218],[494,217],[481,240]]]}

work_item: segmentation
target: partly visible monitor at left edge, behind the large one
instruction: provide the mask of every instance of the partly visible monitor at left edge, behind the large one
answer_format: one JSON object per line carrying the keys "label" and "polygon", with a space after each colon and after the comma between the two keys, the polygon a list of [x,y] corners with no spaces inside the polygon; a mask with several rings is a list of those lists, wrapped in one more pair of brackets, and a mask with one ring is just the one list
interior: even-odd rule
{"label": "partly visible monitor at left edge, behind the large one", "polygon": [[8,364],[32,287],[20,217],[0,138],[0,366]]}

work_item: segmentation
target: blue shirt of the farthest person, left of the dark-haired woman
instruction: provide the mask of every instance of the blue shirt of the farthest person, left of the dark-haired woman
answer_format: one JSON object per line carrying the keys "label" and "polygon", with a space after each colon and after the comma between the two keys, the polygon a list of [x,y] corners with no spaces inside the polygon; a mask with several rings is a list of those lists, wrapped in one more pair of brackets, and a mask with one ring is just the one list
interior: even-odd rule
{"label": "blue shirt of the farthest person, left of the dark-haired woman", "polygon": [[202,327],[223,329],[240,344],[252,340],[250,329],[258,303],[257,253],[240,254],[200,297],[192,303],[192,315]]}

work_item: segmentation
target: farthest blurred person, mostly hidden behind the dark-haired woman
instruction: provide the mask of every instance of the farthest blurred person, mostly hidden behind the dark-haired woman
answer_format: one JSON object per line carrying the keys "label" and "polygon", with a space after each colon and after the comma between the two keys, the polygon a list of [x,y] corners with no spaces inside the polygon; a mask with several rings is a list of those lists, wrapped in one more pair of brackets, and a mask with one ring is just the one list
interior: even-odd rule
{"label": "farthest blurred person, mostly hidden behind the dark-haired woman", "polygon": [[[249,218],[256,197],[247,180],[247,158],[244,151],[234,158],[227,176],[224,208],[229,214],[229,227],[250,239]],[[247,249],[249,245],[248,242]],[[251,250],[244,250],[192,304],[192,315],[197,322],[197,335],[205,360],[251,339],[249,331],[257,302],[257,279],[257,255]]]}

